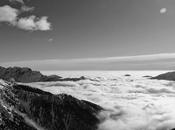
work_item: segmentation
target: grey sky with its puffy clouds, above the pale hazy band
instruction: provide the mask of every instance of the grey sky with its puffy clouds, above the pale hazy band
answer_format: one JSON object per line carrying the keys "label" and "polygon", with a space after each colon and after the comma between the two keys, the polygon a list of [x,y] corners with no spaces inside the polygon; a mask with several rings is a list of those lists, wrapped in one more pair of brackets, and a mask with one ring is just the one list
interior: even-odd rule
{"label": "grey sky with its puffy clouds, above the pale hazy band", "polygon": [[171,57],[174,34],[174,0],[0,0],[1,64]]}

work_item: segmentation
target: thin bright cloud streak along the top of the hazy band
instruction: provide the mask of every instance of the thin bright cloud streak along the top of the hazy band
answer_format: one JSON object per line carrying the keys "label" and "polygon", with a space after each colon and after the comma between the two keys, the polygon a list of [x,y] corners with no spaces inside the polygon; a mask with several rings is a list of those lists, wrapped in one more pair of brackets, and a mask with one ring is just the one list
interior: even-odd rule
{"label": "thin bright cloud streak along the top of the hazy band", "polygon": [[8,61],[0,62],[0,64],[8,63],[27,63],[27,62],[45,62],[45,61],[57,61],[57,62],[87,62],[87,61],[144,61],[144,60],[161,60],[175,58],[175,53],[155,53],[155,54],[143,54],[143,55],[131,55],[131,56],[113,56],[113,57],[88,57],[88,58],[69,58],[69,59],[41,59],[41,60],[21,60],[21,61]]}

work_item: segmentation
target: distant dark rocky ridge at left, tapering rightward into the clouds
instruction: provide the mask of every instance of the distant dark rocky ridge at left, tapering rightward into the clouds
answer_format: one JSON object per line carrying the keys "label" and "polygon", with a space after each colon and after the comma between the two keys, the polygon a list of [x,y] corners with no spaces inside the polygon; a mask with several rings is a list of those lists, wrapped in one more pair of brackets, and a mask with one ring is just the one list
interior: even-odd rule
{"label": "distant dark rocky ridge at left, tapering rightward into the clouds", "polygon": [[7,81],[16,81],[23,83],[30,82],[49,82],[49,81],[78,81],[84,80],[85,77],[80,78],[62,78],[57,75],[46,76],[41,74],[39,71],[33,71],[27,67],[0,67],[0,79]]}

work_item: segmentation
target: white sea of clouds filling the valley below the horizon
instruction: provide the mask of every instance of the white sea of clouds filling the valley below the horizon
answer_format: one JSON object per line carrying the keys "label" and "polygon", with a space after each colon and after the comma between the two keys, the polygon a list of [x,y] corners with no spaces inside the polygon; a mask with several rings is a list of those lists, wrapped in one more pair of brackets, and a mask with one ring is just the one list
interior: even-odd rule
{"label": "white sea of clouds filling the valley below the horizon", "polygon": [[[175,128],[175,82],[151,80],[135,72],[93,73],[77,82],[32,83],[53,94],[67,93],[105,108],[99,130],[170,130]],[[156,72],[158,73],[158,72]],[[160,73],[160,72],[159,72]],[[155,74],[154,74],[155,75]]]}

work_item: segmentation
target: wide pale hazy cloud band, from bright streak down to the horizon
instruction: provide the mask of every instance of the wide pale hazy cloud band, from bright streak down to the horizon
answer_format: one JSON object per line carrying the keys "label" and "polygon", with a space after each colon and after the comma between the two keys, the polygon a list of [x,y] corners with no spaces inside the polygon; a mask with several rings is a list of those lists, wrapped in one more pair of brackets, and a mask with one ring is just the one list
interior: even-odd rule
{"label": "wide pale hazy cloud band, from bright streak down to the horizon", "polygon": [[27,66],[39,70],[172,70],[175,68],[175,53],[84,59],[48,59],[9,62],[1,65]]}

